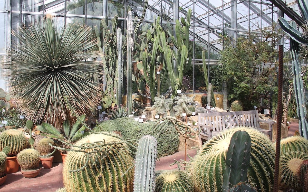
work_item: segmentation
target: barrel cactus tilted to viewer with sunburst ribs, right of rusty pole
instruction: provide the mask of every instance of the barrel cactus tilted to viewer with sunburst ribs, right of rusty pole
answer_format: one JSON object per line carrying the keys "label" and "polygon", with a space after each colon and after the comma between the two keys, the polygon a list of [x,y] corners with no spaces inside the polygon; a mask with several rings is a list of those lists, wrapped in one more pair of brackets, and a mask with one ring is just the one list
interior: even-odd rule
{"label": "barrel cactus tilted to viewer with sunburst ribs, right of rusty pole", "polygon": [[291,188],[301,190],[302,183],[298,175],[302,162],[308,159],[306,153],[290,151],[280,156],[281,182]]}

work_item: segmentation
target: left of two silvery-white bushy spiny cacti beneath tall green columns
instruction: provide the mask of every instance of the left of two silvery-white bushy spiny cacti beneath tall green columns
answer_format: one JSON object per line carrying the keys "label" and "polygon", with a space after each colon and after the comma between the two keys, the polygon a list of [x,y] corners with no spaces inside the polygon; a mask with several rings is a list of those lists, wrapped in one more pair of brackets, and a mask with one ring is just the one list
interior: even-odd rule
{"label": "left of two silvery-white bushy spiny cacti beneath tall green columns", "polygon": [[155,102],[152,106],[152,113],[157,112],[162,116],[166,116],[172,104],[173,104],[172,99],[167,99],[164,96],[155,97]]}

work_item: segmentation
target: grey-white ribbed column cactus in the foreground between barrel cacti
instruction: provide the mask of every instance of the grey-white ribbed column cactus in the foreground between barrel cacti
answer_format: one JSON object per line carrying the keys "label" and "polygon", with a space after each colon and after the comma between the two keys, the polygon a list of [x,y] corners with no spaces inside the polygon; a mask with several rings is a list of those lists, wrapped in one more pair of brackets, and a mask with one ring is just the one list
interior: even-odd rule
{"label": "grey-white ribbed column cactus in the foreground between barrel cacti", "polygon": [[151,135],[141,137],[136,154],[134,192],[152,192],[157,141]]}

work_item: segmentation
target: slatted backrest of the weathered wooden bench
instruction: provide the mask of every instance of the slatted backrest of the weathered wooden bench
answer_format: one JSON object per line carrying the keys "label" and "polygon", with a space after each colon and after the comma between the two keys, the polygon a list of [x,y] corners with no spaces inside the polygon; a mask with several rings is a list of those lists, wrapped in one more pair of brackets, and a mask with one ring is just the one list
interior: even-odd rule
{"label": "slatted backrest of the weathered wooden bench", "polygon": [[257,110],[199,113],[199,123],[213,127],[213,131],[223,131],[237,126],[260,128]]}

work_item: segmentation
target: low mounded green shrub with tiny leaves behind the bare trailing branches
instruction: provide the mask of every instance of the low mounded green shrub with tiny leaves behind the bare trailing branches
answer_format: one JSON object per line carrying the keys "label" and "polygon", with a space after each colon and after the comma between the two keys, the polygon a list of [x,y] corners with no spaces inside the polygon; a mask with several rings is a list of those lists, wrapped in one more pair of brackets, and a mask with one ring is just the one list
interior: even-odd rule
{"label": "low mounded green shrub with tiny leaves behind the bare trailing branches", "polygon": [[[107,120],[100,123],[94,128],[94,131],[109,131],[120,134],[124,138],[140,139],[144,135],[148,135],[155,123],[138,123],[129,117],[119,118],[115,120]],[[154,136],[154,134],[151,134]],[[164,133],[157,138],[157,156],[163,157],[172,155],[179,147],[179,139],[174,139],[174,134]],[[137,145],[136,145],[137,147]],[[136,151],[136,149],[132,149]]]}

